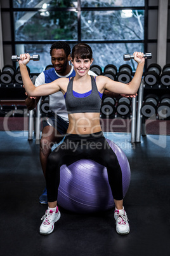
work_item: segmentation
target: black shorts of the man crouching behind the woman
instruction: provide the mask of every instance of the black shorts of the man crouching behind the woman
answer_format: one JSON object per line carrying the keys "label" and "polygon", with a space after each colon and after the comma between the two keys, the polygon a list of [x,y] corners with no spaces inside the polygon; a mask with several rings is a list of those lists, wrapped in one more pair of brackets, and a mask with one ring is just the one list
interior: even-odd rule
{"label": "black shorts of the man crouching behind the woman", "polygon": [[53,112],[48,113],[48,120],[45,122],[44,127],[51,125],[53,126],[60,134],[66,134],[69,127],[69,122],[63,120],[62,117],[55,115]]}

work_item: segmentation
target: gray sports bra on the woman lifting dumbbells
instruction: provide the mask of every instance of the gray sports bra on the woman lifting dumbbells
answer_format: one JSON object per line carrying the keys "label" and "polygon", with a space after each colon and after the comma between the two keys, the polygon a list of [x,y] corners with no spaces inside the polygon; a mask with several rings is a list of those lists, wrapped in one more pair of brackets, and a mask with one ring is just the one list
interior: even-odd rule
{"label": "gray sports bra on the woman lifting dumbbells", "polygon": [[101,98],[93,76],[91,76],[91,94],[87,97],[75,97],[72,91],[74,77],[71,78],[67,87],[65,104],[68,114],[70,113],[100,113]]}

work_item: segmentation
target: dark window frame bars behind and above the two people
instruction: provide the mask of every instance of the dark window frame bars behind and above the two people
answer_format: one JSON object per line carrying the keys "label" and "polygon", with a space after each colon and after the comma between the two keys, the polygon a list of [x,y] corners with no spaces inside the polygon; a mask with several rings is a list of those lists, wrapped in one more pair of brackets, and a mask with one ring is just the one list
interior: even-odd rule
{"label": "dark window frame bars behind and above the two people", "polygon": [[[150,6],[149,8],[157,8],[157,6]],[[147,52],[147,44],[148,44],[148,1],[145,0],[145,6],[112,6],[112,7],[81,7],[81,0],[77,0],[77,8],[68,7],[68,8],[47,8],[46,11],[77,11],[77,40],[63,40],[67,41],[67,43],[143,43],[144,52]],[[81,39],[81,11],[116,11],[116,10],[143,10],[145,11],[144,16],[144,38],[136,39],[136,40],[82,40]],[[10,0],[10,8],[1,8],[1,11],[10,12],[10,20],[11,20],[11,41],[3,41],[3,45],[11,45],[12,53],[15,55],[15,45],[51,45],[53,41],[59,40],[35,40],[35,41],[16,41],[15,40],[15,24],[14,24],[14,15],[15,11],[42,11],[42,8],[14,8],[13,0]],[[153,40],[152,40],[153,41]],[[156,42],[157,40],[155,40]],[[15,66],[15,63],[13,63]]]}

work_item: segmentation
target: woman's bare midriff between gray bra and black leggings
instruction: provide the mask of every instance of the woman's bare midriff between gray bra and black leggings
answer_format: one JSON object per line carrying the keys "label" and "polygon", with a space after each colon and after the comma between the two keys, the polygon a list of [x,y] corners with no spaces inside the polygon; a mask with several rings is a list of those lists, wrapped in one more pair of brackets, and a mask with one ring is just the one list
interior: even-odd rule
{"label": "woman's bare midriff between gray bra and black leggings", "polygon": [[69,114],[69,127],[67,133],[91,134],[100,131],[100,113]]}

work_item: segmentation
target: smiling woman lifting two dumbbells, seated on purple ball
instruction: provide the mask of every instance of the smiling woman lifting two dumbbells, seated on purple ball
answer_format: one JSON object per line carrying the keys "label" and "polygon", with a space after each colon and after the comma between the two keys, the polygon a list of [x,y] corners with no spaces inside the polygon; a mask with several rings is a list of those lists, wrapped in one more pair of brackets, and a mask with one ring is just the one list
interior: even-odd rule
{"label": "smiling woman lifting two dumbbells, seated on purple ball", "polygon": [[129,223],[123,207],[122,173],[119,162],[112,148],[102,134],[100,126],[100,107],[103,91],[109,90],[117,94],[136,94],[141,83],[145,58],[143,53],[134,52],[134,60],[138,62],[133,80],[126,85],[115,82],[106,76],[88,75],[93,63],[92,50],[89,45],[79,43],[72,50],[72,64],[75,77],[59,78],[52,83],[34,87],[26,64],[30,55],[20,55],[20,71],[23,84],[29,96],[46,96],[58,92],[65,96],[69,114],[69,127],[63,143],[48,158],[46,168],[46,187],[48,191],[48,210],[42,217],[41,234],[53,232],[54,224],[60,218],[57,207],[58,186],[60,183],[60,166],[72,164],[79,159],[93,159],[107,167],[108,181],[115,202],[114,218],[116,231],[119,234],[129,233]]}

